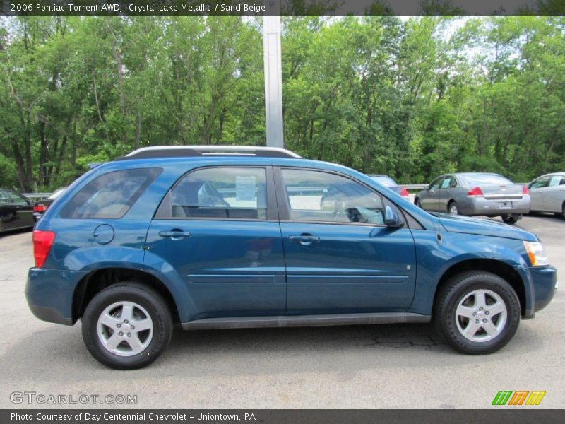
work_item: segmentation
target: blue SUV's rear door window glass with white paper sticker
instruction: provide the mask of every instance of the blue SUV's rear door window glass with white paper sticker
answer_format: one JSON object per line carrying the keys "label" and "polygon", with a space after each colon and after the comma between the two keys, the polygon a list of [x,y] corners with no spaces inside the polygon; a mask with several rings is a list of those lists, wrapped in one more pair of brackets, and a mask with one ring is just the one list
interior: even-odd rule
{"label": "blue SUV's rear door window glass with white paper sticker", "polygon": [[267,219],[262,167],[210,167],[190,172],[167,194],[157,218]]}

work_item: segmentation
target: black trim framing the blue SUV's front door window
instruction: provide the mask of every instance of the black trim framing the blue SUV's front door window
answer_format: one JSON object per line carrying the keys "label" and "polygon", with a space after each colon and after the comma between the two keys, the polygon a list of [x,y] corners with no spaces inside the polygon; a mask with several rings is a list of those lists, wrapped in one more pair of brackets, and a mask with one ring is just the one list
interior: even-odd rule
{"label": "black trim framing the blue SUV's front door window", "polygon": [[[283,179],[283,170],[306,170],[306,171],[317,171],[317,172],[328,172],[329,174],[338,175],[340,177],[344,177],[350,179],[352,182],[356,182],[357,184],[361,184],[363,187],[368,189],[370,192],[376,194],[377,196],[381,197],[383,201],[383,206],[386,206],[387,203],[392,204],[394,207],[398,209],[400,214],[404,218],[404,228],[411,228],[414,230],[423,230],[424,227],[420,224],[416,218],[411,216],[408,212],[404,210],[401,206],[399,206],[395,201],[388,199],[387,196],[380,192],[376,192],[375,189],[369,187],[359,179],[354,177],[350,177],[350,175],[343,174],[342,172],[337,172],[334,170],[323,170],[320,168],[315,167],[299,167],[299,166],[273,166],[273,172],[275,177],[275,190],[277,194],[277,205],[278,205],[278,215],[280,222],[290,222],[290,223],[301,223],[301,224],[332,224],[332,225],[353,225],[356,227],[371,227],[371,228],[386,228],[386,225],[374,224],[374,223],[345,223],[345,222],[336,222],[336,221],[320,221],[320,220],[294,220],[290,217],[290,205],[288,204],[288,199],[285,190],[285,181]],[[416,228],[412,228],[410,223],[415,223],[417,225]],[[419,228],[418,228],[419,227]]]}

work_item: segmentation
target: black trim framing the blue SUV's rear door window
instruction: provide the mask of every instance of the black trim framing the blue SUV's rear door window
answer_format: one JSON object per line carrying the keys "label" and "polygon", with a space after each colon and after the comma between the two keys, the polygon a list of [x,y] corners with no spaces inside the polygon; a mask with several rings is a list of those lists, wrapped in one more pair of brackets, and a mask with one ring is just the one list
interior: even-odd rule
{"label": "black trim framing the blue SUV's rear door window", "polygon": [[[162,211],[162,208],[165,208],[165,205],[170,204],[171,193],[177,187],[177,185],[182,182],[185,177],[188,177],[193,172],[198,170],[205,170],[210,168],[254,168],[254,169],[263,169],[265,171],[265,189],[267,191],[267,218],[218,218],[218,217],[193,217],[193,216],[168,216],[169,214],[165,214]],[[269,170],[270,168],[270,170]],[[276,222],[278,223],[278,208],[277,208],[277,199],[275,197],[275,183],[273,180],[273,169],[270,165],[205,165],[194,167],[191,170],[184,172],[177,180],[172,184],[172,186],[167,190],[167,193],[161,201],[159,205],[155,209],[155,213],[153,214],[153,220],[212,220],[212,221],[251,221],[251,222],[261,222],[261,223],[268,223],[268,222]]]}

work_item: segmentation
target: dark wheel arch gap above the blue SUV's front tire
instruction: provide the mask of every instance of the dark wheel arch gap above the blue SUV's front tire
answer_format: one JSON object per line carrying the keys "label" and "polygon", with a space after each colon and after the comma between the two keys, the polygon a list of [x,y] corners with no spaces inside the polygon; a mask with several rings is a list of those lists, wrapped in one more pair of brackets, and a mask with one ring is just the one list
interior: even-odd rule
{"label": "dark wheel arch gap above the blue SUV's front tire", "polygon": [[[520,300],[520,311],[521,315],[524,316],[526,312],[526,293],[525,293],[525,283],[515,269],[509,264],[503,261],[498,261],[496,259],[468,259],[465,261],[457,262],[451,265],[441,276],[439,282],[436,286],[436,291],[434,293],[434,305],[438,301],[438,295],[441,292],[441,288],[446,285],[449,278],[457,275],[463,271],[486,271],[493,273],[496,276],[507,281],[513,290],[518,295],[518,300]],[[434,307],[432,307],[432,311]]]}

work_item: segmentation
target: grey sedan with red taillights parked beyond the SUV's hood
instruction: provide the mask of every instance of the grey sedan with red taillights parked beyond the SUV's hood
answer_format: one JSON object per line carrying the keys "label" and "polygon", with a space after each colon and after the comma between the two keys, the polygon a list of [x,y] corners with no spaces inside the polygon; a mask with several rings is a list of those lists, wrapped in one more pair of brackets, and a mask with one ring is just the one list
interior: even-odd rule
{"label": "grey sedan with red taillights parked beyond the SUV's hood", "polygon": [[459,172],[441,175],[416,194],[414,203],[426,211],[451,215],[501,216],[514,224],[530,211],[530,192],[499,174]]}

